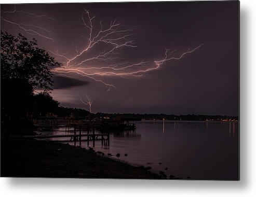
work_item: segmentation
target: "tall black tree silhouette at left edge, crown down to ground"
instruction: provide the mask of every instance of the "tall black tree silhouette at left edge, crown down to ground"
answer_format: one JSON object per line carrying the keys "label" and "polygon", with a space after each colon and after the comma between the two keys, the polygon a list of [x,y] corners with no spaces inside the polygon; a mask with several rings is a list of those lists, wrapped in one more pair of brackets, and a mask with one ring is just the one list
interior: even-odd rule
{"label": "tall black tree silhouette at left edge, crown down to ground", "polygon": [[[34,107],[34,90],[52,90],[50,68],[59,65],[37,47],[35,39],[17,37],[1,31],[1,130],[19,132],[29,122]],[[8,131],[7,131],[8,130]]]}

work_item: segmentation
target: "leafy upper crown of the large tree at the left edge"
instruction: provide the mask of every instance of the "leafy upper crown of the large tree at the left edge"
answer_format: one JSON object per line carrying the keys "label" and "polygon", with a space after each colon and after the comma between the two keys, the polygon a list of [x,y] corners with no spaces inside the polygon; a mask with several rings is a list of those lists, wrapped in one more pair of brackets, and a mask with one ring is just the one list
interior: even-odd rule
{"label": "leafy upper crown of the large tree at the left edge", "polygon": [[47,51],[37,47],[37,40],[23,34],[15,37],[1,31],[1,79],[22,79],[35,90],[52,90],[50,68],[59,65]]}

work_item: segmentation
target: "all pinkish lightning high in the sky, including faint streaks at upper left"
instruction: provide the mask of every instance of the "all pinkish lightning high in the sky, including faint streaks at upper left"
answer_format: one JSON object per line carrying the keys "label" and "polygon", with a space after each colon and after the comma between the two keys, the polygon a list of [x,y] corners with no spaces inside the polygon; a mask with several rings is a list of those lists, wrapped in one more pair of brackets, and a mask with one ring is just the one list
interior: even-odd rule
{"label": "all pinkish lightning high in the sky, including faint streaks at upper left", "polygon": [[[31,17],[41,17],[48,20],[55,20],[46,15],[36,15],[35,13],[17,10],[15,6],[13,11],[2,12],[24,13]],[[1,18],[5,22],[18,26],[27,34],[41,36],[54,41],[54,39],[50,37],[52,32],[44,29],[41,26],[34,24],[23,24],[7,20],[3,17]],[[53,68],[52,72],[59,75],[77,74],[87,77],[105,85],[107,91],[111,90],[111,88],[117,88],[113,84],[104,81],[105,79],[103,80],[103,77],[141,77],[145,73],[160,69],[166,62],[184,58],[185,55],[193,53],[204,45],[200,44],[194,49],[188,49],[182,54],[177,54],[177,50],[170,51],[169,49],[166,49],[164,57],[161,59],[151,59],[134,63],[125,61],[125,58],[120,55],[120,49],[137,47],[136,43],[132,39],[132,36],[137,34],[138,30],[136,28],[125,28],[124,25],[118,23],[116,20],[111,21],[107,25],[103,25],[101,20],[95,24],[96,17],[92,16],[87,9],[83,9],[81,21],[83,22],[82,24],[88,33],[86,38],[86,46],[79,50],[77,49],[77,46],[74,46],[75,50],[73,55],[71,53],[69,53],[69,55],[67,53],[60,54],[58,50],[48,50],[56,57],[58,61],[64,61],[61,66]],[[101,46],[101,48],[98,49],[98,46]],[[91,54],[91,51],[96,51],[97,53]],[[174,52],[176,55],[174,55]]]}

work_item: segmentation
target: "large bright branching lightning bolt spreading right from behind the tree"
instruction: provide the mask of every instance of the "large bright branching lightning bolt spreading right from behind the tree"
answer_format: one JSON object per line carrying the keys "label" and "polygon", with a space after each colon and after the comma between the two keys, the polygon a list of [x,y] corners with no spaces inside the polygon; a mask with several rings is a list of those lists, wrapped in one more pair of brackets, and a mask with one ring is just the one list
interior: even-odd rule
{"label": "large bright branching lightning bolt spreading right from behind the tree", "polygon": [[[53,69],[53,72],[59,74],[75,73],[93,79],[103,83],[107,87],[107,91],[109,91],[111,88],[116,89],[116,87],[100,78],[113,76],[123,78],[141,77],[147,72],[159,69],[167,61],[182,59],[186,54],[192,53],[204,45],[200,44],[192,50],[188,49],[178,57],[171,57],[171,54],[176,52],[176,50],[169,52],[169,49],[166,49],[165,57],[160,60],[141,61],[139,63],[122,62],[124,58],[119,56],[118,51],[120,48],[124,47],[137,47],[134,40],[131,39],[131,36],[136,34],[134,32],[136,29],[134,27],[122,29],[122,25],[114,20],[105,28],[103,27],[102,21],[100,21],[100,29],[97,30],[96,27],[93,26],[95,19],[95,16],[91,16],[89,11],[84,9],[82,21],[88,31],[88,44],[79,52],[76,48],[76,53],[73,57],[68,58],[58,51],[53,52],[49,50],[49,52],[56,55],[56,57],[66,61],[64,65]],[[105,48],[99,50],[96,55],[88,57],[89,51],[100,44],[101,46],[104,45]],[[91,64],[94,65],[90,66]]]}

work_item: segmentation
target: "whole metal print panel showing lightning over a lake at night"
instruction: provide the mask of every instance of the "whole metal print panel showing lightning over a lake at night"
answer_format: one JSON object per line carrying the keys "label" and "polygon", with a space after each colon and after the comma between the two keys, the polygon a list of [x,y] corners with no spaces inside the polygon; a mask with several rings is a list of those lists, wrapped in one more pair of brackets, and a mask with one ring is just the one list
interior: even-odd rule
{"label": "whole metal print panel showing lightning over a lake at night", "polygon": [[239,180],[239,2],[1,5],[1,176]]}

